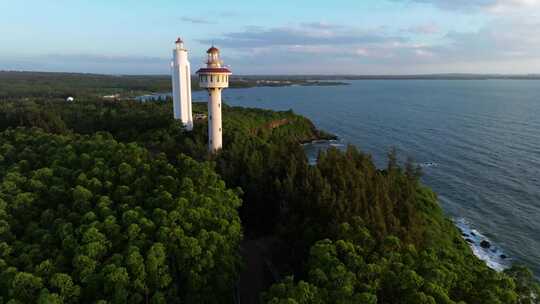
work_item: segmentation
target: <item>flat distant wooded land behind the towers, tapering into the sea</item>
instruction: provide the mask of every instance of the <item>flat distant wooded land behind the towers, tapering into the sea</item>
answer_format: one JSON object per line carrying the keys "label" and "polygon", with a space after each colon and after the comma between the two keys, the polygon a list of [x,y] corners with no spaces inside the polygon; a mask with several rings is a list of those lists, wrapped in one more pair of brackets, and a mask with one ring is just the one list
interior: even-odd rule
{"label": "flat distant wooded land behind the towers, tapering into the sea", "polygon": [[[192,89],[200,90],[197,77],[192,77]],[[346,83],[318,81],[308,77],[290,76],[233,76],[231,88],[257,86],[328,86]],[[130,100],[134,97],[170,92],[169,75],[101,75],[81,73],[49,73],[0,71],[0,100],[24,98],[63,98],[110,96],[111,99]]]}

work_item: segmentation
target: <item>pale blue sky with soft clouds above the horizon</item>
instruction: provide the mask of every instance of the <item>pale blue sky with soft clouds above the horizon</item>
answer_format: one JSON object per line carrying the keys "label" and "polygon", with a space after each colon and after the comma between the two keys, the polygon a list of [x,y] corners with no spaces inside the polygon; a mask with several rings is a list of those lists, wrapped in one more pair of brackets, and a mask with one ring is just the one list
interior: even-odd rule
{"label": "pale blue sky with soft clouds above the horizon", "polygon": [[540,0],[0,0],[0,70],[168,74],[178,36],[193,71],[540,73]]}

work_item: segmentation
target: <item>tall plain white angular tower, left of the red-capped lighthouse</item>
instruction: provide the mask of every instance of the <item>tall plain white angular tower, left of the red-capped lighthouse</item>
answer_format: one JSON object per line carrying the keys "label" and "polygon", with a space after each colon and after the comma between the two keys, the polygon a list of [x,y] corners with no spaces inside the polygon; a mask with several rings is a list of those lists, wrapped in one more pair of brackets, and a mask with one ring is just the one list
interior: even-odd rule
{"label": "tall plain white angular tower, left of the red-capped lighthouse", "polygon": [[191,67],[184,42],[178,38],[173,50],[172,87],[174,119],[180,120],[186,129],[193,130],[191,111]]}

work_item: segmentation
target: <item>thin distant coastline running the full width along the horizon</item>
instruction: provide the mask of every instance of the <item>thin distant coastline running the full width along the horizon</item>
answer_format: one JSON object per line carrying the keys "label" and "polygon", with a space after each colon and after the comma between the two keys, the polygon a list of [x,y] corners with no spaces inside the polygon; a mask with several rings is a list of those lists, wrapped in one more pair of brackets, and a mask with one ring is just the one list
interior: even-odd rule
{"label": "thin distant coastline running the full width along the horizon", "polygon": [[[194,76],[193,76],[194,77]],[[54,79],[55,82],[51,82]],[[540,74],[418,74],[418,75],[236,75],[230,88],[345,86],[353,80],[540,80]],[[10,85],[8,85],[8,83]],[[99,88],[99,89],[96,89]],[[200,90],[197,79],[192,89]],[[0,100],[9,98],[79,98],[132,100],[143,95],[171,92],[169,75],[105,75],[90,73],[2,71]],[[46,92],[45,95],[43,92]]]}

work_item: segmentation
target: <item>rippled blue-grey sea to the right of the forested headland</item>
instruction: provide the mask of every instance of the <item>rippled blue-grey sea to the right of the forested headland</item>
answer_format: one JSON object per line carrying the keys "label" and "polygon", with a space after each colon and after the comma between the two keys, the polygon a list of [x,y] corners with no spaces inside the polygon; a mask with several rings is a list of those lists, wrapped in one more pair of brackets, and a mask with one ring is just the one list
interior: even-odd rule
{"label": "rippled blue-grey sea to the right of the forested headland", "polygon": [[423,167],[423,182],[489,266],[520,262],[540,275],[540,81],[363,80],[228,89],[224,99],[293,109],[339,136],[307,147],[312,157],[351,143],[384,166],[397,148]]}

